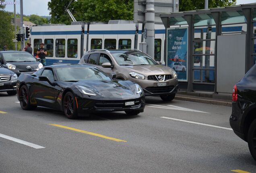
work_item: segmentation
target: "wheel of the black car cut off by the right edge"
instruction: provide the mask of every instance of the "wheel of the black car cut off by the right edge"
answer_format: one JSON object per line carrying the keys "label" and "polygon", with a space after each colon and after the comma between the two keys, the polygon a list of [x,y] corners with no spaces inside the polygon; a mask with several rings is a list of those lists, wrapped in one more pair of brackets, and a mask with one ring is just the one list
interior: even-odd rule
{"label": "wheel of the black car cut off by the right edge", "polygon": [[256,161],[256,119],[252,121],[248,131],[248,147],[252,157]]}

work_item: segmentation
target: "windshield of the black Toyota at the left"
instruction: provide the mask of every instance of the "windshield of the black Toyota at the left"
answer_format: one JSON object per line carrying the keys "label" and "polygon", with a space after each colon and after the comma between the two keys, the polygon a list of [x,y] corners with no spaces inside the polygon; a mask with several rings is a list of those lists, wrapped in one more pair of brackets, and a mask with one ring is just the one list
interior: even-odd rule
{"label": "windshield of the black Toyota at the left", "polygon": [[37,62],[34,56],[22,52],[3,52],[3,58],[6,62]]}

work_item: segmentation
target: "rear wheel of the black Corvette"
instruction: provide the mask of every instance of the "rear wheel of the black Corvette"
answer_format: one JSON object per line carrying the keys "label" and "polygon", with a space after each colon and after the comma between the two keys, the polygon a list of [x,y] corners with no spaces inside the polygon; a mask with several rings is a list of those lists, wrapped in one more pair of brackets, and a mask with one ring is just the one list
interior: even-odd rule
{"label": "rear wheel of the black Corvette", "polygon": [[20,101],[21,108],[24,109],[24,110],[33,110],[33,109],[37,108],[36,105],[31,105],[30,96],[29,96],[29,89],[25,85],[23,85],[20,88],[19,101]]}

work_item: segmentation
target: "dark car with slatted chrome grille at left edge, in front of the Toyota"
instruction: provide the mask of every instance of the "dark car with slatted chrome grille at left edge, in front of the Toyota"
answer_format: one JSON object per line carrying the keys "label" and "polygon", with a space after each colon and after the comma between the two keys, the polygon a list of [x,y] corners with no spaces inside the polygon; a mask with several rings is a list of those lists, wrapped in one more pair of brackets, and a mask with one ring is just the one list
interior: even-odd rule
{"label": "dark car with slatted chrome grille at left edge, in front of the Toyota", "polygon": [[17,74],[0,65],[0,92],[16,95]]}

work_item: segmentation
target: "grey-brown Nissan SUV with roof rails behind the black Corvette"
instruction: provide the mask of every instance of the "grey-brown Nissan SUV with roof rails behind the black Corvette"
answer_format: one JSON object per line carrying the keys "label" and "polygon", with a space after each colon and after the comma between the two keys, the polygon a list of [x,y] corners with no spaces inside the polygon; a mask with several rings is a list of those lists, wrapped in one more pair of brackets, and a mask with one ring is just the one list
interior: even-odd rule
{"label": "grey-brown Nissan SUV with roof rails behind the black Corvette", "polygon": [[109,75],[116,75],[115,79],[136,82],[146,96],[159,95],[163,101],[172,101],[178,90],[175,70],[140,50],[90,50],[79,64],[91,64]]}

